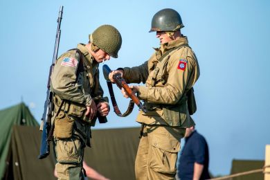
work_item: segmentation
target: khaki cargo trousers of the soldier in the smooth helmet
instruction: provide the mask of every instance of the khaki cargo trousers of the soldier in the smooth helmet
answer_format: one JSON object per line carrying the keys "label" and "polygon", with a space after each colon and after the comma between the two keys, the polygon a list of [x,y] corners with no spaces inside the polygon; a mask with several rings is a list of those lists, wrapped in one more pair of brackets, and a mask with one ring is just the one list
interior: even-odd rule
{"label": "khaki cargo trousers of the soldier in the smooth helmet", "polygon": [[174,179],[180,139],[185,133],[185,128],[145,125],[136,154],[136,179]]}

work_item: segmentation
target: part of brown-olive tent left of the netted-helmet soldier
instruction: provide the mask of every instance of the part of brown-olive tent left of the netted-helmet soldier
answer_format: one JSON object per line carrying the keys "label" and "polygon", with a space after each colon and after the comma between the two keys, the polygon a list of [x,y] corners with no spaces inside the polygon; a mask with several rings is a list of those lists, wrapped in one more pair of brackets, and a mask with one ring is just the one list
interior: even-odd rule
{"label": "part of brown-olive tent left of the netted-helmet soldier", "polygon": [[51,154],[46,159],[38,159],[41,132],[39,127],[14,125],[10,140],[10,150],[6,162],[8,168],[5,180],[48,180],[53,176],[55,158]]}

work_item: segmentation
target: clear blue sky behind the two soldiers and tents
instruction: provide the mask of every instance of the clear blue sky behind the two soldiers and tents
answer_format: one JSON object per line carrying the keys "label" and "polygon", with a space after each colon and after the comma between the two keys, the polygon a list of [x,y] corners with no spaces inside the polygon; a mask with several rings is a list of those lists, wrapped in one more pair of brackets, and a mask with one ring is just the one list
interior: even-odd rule
{"label": "clear blue sky behind the two soldiers and tents", "polygon": [[[163,8],[177,10],[201,69],[193,118],[208,141],[210,172],[229,174],[232,159],[264,159],[270,143],[270,1],[0,1],[0,109],[22,99],[40,123],[60,6],[59,55],[111,24],[123,37],[118,59],[106,62],[111,69],[145,62],[159,46],[148,33],[152,16]],[[125,111],[129,101],[116,87],[115,93]],[[127,118],[111,111],[109,123],[94,129],[138,126],[137,111]]]}

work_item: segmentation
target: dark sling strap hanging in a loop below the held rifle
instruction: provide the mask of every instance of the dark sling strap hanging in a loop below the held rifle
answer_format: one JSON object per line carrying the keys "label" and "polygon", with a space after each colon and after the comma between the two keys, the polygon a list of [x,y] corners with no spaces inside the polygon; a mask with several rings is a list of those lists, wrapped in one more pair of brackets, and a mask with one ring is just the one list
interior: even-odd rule
{"label": "dark sling strap hanging in a loop below the held rifle", "polygon": [[107,81],[107,86],[108,86],[108,89],[109,89],[109,95],[111,96],[111,103],[114,107],[114,112],[116,113],[117,116],[120,116],[120,117],[126,117],[128,116],[129,114],[132,113],[132,110],[134,108],[134,101],[133,100],[130,100],[129,101],[129,106],[127,107],[127,111],[125,111],[124,114],[121,114],[119,108],[118,108],[118,105],[116,103],[116,98],[114,97],[114,89],[112,87],[112,83],[110,81]]}

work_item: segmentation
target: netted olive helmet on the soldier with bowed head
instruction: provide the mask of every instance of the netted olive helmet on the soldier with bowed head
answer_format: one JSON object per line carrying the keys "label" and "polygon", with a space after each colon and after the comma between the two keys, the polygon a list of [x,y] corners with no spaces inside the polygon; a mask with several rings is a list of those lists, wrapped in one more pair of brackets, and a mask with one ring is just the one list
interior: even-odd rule
{"label": "netted olive helmet on the soldier with bowed head", "polygon": [[93,31],[92,35],[89,35],[89,38],[93,44],[108,53],[111,57],[118,57],[122,37],[114,26],[102,25]]}

